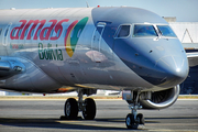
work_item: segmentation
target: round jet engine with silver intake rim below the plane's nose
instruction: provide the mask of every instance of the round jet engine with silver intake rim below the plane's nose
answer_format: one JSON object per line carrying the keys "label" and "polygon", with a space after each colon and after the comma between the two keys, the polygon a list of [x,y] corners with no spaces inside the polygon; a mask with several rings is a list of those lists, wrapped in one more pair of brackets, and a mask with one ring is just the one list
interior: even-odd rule
{"label": "round jet engine with silver intake rim below the plane's nose", "polygon": [[179,85],[174,88],[151,92],[150,99],[144,99],[141,95],[140,103],[143,109],[163,109],[170,107],[179,96]]}

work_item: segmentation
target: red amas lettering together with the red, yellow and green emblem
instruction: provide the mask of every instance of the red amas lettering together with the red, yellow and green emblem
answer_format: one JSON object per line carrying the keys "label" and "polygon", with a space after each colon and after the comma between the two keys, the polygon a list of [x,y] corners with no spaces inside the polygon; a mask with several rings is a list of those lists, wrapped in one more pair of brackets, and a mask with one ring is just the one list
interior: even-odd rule
{"label": "red amas lettering together with the red, yellow and green emblem", "polygon": [[[69,57],[73,56],[76,44],[78,42],[78,38],[88,21],[88,16],[79,20],[76,20],[72,22],[72,24],[68,26],[66,36],[64,36],[64,45],[66,53]],[[20,26],[15,26],[12,29],[10,33],[11,40],[41,40],[41,41],[56,41],[59,38],[59,36],[63,33],[63,23],[68,22],[69,19],[64,19],[61,21],[57,20],[50,20],[51,23],[50,26],[44,26],[46,24],[46,20],[30,20],[29,22],[26,20],[20,20],[21,22]],[[30,30],[29,30],[30,29]],[[55,32],[55,33],[53,33]],[[53,34],[53,36],[52,36]],[[38,44],[40,45],[40,44]]]}

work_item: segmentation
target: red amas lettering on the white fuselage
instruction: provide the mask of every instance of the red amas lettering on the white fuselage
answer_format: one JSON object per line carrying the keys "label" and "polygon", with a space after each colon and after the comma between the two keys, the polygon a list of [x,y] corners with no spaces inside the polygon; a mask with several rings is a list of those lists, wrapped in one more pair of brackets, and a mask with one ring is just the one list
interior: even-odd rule
{"label": "red amas lettering on the white fuselage", "polygon": [[[26,40],[31,40],[31,37],[33,37],[33,40],[40,38],[41,41],[44,41],[44,40],[56,41],[57,38],[59,38],[59,36],[63,32],[62,23],[68,22],[68,21],[69,21],[69,19],[64,19],[64,20],[61,20],[59,22],[57,20],[50,20],[48,22],[51,22],[51,25],[44,26],[46,23],[46,20],[41,20],[41,21],[40,20],[30,20],[29,22],[26,20],[20,20],[19,22],[22,22],[21,25],[12,29],[12,31],[10,33],[10,38],[11,40],[24,40],[25,34],[26,34]],[[37,24],[40,24],[40,25],[37,26]],[[31,29],[30,29],[30,26],[31,26]],[[53,30],[56,33],[56,35],[52,36],[51,33]]]}

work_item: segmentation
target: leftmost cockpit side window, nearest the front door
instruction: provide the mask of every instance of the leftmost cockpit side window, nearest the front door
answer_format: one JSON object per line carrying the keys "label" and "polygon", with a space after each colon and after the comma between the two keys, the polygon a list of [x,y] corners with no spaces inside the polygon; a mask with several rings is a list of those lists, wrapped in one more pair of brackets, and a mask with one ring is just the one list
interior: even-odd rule
{"label": "leftmost cockpit side window, nearest the front door", "polygon": [[130,35],[130,28],[131,25],[121,25],[118,29],[117,37],[127,37]]}

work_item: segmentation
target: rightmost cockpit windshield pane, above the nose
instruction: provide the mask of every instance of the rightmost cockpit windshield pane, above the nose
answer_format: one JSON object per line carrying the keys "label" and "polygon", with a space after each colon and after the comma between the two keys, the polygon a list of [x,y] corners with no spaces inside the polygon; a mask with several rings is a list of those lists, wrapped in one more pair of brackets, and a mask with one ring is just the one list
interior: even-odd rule
{"label": "rightmost cockpit windshield pane, above the nose", "polygon": [[168,25],[157,25],[157,28],[162,36],[177,37]]}

